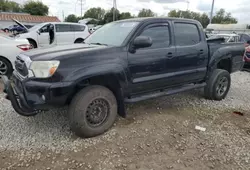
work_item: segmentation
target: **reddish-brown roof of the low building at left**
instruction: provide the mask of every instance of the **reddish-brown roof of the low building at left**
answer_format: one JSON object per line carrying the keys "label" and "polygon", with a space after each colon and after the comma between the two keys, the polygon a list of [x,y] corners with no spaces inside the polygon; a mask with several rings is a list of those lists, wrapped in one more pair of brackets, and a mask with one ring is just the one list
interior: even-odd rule
{"label": "reddish-brown roof of the low building at left", "polygon": [[0,21],[11,21],[12,19],[16,19],[20,22],[32,22],[32,23],[60,22],[60,20],[54,16],[37,16],[37,15],[29,15],[26,13],[0,12]]}

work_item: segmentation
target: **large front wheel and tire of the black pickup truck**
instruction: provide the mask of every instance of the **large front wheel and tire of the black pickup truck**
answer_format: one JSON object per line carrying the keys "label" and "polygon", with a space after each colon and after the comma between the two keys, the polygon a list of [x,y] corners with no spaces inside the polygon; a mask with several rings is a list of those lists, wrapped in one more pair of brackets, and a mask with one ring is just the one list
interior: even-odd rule
{"label": "large front wheel and tire of the black pickup truck", "polygon": [[[105,112],[106,111],[106,112]],[[94,120],[95,116],[100,120]],[[106,132],[117,117],[114,94],[103,86],[89,86],[78,92],[69,106],[71,130],[79,137],[89,138]],[[98,119],[98,118],[97,118]]]}

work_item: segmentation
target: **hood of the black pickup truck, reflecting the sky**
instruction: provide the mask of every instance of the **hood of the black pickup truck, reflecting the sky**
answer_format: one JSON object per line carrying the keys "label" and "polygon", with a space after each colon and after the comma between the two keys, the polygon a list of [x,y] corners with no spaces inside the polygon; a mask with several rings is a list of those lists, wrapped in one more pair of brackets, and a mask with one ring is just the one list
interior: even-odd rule
{"label": "hood of the black pickup truck, reflecting the sky", "polygon": [[38,48],[30,50],[29,52],[24,53],[30,57],[32,61],[46,61],[60,58],[69,57],[71,55],[78,54],[79,56],[83,53],[90,51],[100,51],[101,49],[112,48],[112,46],[104,45],[90,45],[90,44],[72,44],[72,45],[61,45],[61,46],[52,46],[46,48]]}

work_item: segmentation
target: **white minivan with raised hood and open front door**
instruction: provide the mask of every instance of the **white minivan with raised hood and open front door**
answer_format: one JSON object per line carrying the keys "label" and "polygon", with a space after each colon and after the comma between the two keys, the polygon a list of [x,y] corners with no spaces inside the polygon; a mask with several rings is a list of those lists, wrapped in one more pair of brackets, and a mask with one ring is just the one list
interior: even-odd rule
{"label": "white minivan with raised hood and open front door", "polygon": [[82,43],[90,34],[88,26],[84,24],[46,22],[28,29],[17,20],[14,21],[26,29],[26,33],[19,34],[16,37],[27,39],[34,48]]}

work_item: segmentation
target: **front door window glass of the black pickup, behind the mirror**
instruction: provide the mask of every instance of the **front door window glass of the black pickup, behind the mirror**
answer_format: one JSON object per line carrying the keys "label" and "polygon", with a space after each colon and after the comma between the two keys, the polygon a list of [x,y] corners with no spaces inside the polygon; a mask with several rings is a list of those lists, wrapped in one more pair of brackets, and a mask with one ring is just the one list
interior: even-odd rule
{"label": "front door window glass of the black pickup, behind the mirror", "polygon": [[152,46],[145,49],[166,48],[170,45],[168,25],[148,27],[141,33],[141,36],[148,36],[153,40]]}

